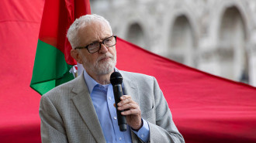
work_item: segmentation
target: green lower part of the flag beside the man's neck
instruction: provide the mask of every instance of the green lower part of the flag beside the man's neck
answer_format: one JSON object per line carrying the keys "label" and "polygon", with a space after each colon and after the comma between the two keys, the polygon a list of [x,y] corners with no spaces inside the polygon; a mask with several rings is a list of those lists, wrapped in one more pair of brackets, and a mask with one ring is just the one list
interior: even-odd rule
{"label": "green lower part of the flag beside the man's neck", "polygon": [[73,80],[73,74],[69,73],[71,67],[66,63],[64,53],[39,39],[30,87],[43,95],[54,87]]}

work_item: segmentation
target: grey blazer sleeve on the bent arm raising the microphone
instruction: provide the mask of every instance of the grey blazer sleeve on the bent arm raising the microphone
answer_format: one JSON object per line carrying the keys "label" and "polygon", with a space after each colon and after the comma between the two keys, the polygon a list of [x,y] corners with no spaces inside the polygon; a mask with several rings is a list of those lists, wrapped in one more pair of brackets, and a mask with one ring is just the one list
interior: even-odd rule
{"label": "grey blazer sleeve on the bent arm raising the microphone", "polygon": [[155,78],[154,102],[155,124],[148,122],[150,128],[150,142],[185,142],[182,134],[180,134],[178,129],[176,128],[174,121],[172,121],[171,111]]}

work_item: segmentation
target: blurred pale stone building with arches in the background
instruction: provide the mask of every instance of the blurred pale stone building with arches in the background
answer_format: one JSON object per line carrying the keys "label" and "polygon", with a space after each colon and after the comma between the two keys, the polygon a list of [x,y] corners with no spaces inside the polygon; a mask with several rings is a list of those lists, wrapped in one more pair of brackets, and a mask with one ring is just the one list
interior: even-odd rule
{"label": "blurred pale stone building with arches in the background", "polygon": [[115,35],[196,69],[256,86],[255,0],[91,0]]}

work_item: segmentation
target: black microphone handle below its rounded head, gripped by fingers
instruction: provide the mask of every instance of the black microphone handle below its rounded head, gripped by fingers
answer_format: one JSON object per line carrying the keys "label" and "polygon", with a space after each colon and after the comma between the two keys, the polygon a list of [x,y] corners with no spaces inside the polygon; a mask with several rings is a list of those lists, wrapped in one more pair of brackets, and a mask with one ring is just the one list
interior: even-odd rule
{"label": "black microphone handle below its rounded head, gripped by fingers", "polygon": [[116,101],[116,114],[117,114],[119,129],[120,129],[120,131],[126,131],[126,129],[127,129],[126,117],[121,114],[122,111],[119,111],[117,109],[117,104],[121,101],[120,97],[123,96],[123,88],[122,88],[121,84],[114,85],[113,91],[114,91],[114,97],[115,97],[115,101]]}

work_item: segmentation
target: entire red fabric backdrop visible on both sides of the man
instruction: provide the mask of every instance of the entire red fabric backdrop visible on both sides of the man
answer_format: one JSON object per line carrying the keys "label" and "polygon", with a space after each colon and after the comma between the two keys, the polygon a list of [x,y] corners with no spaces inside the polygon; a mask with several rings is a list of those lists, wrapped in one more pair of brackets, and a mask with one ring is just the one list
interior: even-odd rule
{"label": "entire red fabric backdrop visible on both sides of the man", "polygon": [[[29,88],[43,0],[0,1],[0,142],[40,142],[40,95]],[[187,143],[256,142],[256,89],[118,39],[119,70],[157,78]]]}

